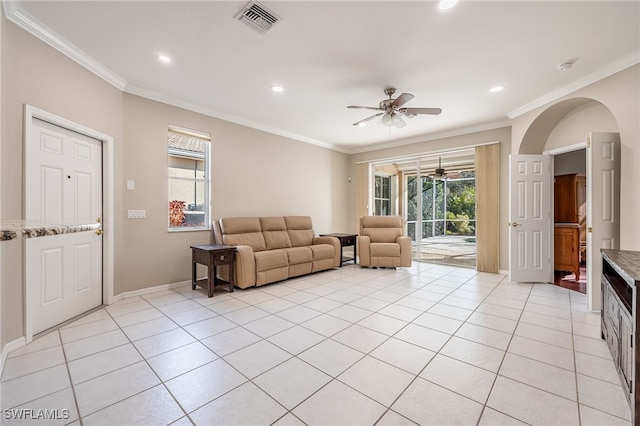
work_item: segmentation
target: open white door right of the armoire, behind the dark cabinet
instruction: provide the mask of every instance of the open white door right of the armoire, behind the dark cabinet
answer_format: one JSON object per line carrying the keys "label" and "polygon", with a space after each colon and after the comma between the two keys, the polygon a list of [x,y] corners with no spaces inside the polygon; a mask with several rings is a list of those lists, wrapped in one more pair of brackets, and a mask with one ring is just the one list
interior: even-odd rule
{"label": "open white door right of the armoire, behind the dark cabinet", "polygon": [[620,248],[620,135],[587,135],[587,308],[602,308],[600,249]]}

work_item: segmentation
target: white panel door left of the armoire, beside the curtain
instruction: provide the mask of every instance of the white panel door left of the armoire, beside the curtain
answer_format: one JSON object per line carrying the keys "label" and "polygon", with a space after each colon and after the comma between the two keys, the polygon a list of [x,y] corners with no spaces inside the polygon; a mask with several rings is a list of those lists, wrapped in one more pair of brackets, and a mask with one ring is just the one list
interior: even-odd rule
{"label": "white panel door left of the armoire, beside the curtain", "polygon": [[511,155],[509,280],[548,282],[551,270],[551,159]]}

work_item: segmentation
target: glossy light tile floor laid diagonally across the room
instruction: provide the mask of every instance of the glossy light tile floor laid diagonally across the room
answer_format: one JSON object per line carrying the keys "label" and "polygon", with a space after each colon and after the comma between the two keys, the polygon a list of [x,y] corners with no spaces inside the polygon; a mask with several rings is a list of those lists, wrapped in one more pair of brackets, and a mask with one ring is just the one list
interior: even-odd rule
{"label": "glossy light tile floor laid diagonally across the room", "polygon": [[425,263],[184,286],[9,354],[2,424],[628,425],[599,321],[583,294]]}

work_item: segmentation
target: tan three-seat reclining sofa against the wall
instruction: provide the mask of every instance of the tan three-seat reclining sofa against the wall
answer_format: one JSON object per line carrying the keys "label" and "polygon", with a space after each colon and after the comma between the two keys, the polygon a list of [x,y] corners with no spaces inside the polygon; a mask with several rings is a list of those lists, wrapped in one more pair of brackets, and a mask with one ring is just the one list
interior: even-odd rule
{"label": "tan three-seat reclining sofa against the wall", "polygon": [[[309,216],[227,217],[214,222],[217,244],[237,247],[235,285],[260,286],[340,265],[340,242],[316,237]],[[219,275],[228,279],[228,267]]]}

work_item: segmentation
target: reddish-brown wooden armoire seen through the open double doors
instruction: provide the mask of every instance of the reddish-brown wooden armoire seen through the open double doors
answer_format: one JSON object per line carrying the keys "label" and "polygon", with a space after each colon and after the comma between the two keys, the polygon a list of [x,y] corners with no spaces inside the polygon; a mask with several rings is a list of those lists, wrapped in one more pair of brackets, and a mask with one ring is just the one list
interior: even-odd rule
{"label": "reddish-brown wooden armoire seen through the open double doors", "polygon": [[587,181],[584,175],[556,176],[554,180],[554,269],[573,272],[580,279],[586,259]]}

